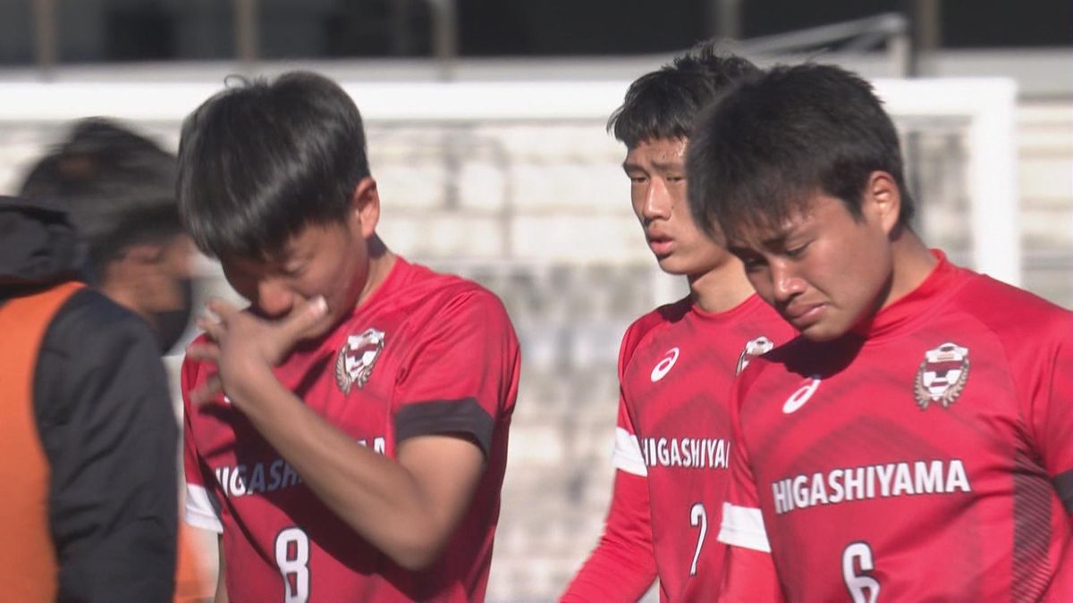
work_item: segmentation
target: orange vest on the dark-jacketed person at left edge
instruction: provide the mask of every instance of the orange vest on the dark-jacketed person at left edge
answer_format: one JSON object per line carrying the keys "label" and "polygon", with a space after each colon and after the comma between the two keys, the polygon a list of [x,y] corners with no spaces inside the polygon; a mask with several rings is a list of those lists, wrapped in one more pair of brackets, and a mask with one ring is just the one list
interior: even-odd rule
{"label": "orange vest on the dark-jacketed person at left edge", "polygon": [[0,584],[11,601],[56,599],[56,547],[48,521],[48,458],[33,405],[33,377],[45,330],[79,282],[15,297],[0,306]]}

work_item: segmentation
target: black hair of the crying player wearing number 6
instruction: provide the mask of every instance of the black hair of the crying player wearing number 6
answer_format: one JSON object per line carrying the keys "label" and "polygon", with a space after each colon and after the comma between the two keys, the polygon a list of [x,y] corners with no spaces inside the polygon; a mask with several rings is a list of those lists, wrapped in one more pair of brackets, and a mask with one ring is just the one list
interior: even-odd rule
{"label": "black hair of the crying player wearing number 6", "polygon": [[686,170],[693,218],[711,236],[779,224],[815,193],[859,218],[876,171],[898,187],[902,225],[914,211],[891,117],[870,84],[833,65],[780,65],[738,82],[697,119]]}

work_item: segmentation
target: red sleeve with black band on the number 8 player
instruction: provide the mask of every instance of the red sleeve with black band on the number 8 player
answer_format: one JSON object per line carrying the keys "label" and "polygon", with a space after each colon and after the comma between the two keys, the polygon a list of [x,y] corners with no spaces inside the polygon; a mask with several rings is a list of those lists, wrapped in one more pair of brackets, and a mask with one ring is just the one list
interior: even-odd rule
{"label": "red sleeve with black band on the number 8 player", "polygon": [[395,436],[462,433],[485,456],[497,423],[514,410],[520,352],[499,299],[474,288],[414,325],[395,385]]}

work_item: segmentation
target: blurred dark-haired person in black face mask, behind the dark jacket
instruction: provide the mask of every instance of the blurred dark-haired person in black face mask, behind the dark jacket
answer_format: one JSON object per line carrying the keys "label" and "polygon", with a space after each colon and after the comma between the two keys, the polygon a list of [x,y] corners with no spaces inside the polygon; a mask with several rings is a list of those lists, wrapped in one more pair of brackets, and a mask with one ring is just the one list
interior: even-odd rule
{"label": "blurred dark-haired person in black face mask, behind the dark jacket", "polygon": [[[21,195],[59,200],[88,247],[83,275],[142,317],[160,354],[172,349],[191,312],[192,245],[179,223],[175,156],[112,120],[74,123],[29,171]],[[191,535],[178,529],[176,601],[211,597]]]}

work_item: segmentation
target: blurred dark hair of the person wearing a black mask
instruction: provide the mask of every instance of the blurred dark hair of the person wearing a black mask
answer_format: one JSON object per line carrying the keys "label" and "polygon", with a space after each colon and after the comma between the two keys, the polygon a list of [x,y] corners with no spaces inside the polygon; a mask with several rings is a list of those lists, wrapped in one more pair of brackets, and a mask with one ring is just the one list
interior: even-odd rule
{"label": "blurred dark hair of the person wearing a black mask", "polygon": [[77,121],[28,172],[19,194],[67,204],[86,239],[92,280],[133,245],[166,244],[182,232],[175,156],[119,123]]}

